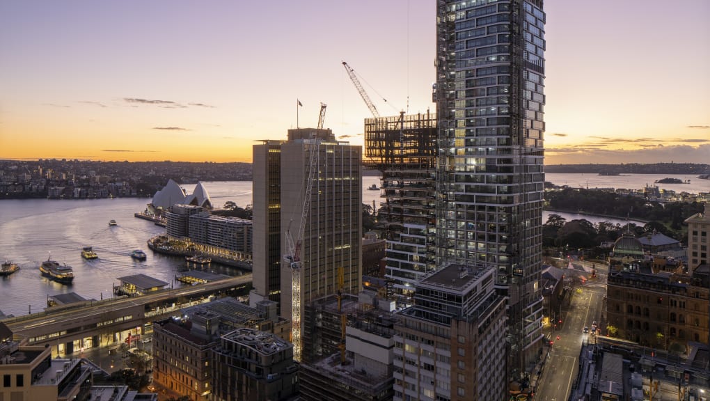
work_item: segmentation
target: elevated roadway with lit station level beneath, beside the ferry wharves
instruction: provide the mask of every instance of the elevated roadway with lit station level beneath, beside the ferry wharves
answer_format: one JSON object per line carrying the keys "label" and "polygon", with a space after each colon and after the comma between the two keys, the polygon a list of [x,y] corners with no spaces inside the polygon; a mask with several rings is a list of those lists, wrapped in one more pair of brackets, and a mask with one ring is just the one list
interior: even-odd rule
{"label": "elevated roadway with lit station level beneath, beside the ferry wharves", "polygon": [[86,301],[44,312],[4,319],[16,340],[28,345],[53,347],[53,355],[65,356],[87,348],[116,347],[137,341],[152,330],[155,320],[180,314],[180,309],[246,290],[251,274],[191,287],[151,292],[139,297],[114,297]]}

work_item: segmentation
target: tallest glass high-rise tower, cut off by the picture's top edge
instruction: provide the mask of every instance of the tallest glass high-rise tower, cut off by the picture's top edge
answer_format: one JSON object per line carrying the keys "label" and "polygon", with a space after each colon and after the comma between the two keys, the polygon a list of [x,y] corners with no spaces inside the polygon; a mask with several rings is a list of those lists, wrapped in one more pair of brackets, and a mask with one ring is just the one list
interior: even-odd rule
{"label": "tallest glass high-rise tower, cut off by the picture's top edge", "polygon": [[437,259],[496,268],[511,379],[542,352],[542,2],[437,2]]}

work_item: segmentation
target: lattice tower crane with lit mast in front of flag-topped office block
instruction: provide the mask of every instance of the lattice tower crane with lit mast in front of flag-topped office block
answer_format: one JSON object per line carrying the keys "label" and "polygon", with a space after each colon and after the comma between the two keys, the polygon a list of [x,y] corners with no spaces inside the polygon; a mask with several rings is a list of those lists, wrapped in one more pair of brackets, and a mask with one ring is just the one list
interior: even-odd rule
{"label": "lattice tower crane with lit mast in front of flag-topped office block", "polygon": [[[324,115],[325,107],[321,106],[321,116]],[[320,125],[320,122],[319,122]],[[304,143],[305,144],[305,143]],[[288,263],[288,268],[291,269],[291,342],[293,343],[293,358],[296,361],[301,361],[302,338],[301,338],[301,242],[303,240],[303,231],[310,212],[311,191],[313,189],[313,176],[317,171],[318,166],[318,143],[314,139],[308,143],[310,149],[310,160],[308,170],[306,172],[306,189],[303,197],[303,207],[301,209],[301,221],[298,225],[298,231],[295,233],[295,239],[291,234],[291,222],[286,229],[286,254],[283,259]]]}

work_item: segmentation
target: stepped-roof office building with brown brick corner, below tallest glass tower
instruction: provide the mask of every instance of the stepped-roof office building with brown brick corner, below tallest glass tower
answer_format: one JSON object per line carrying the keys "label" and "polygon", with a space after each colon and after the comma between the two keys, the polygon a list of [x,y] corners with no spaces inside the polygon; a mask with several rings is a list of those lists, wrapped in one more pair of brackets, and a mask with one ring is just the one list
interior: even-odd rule
{"label": "stepped-roof office building with brown brick corner, below tallest glass tower", "polygon": [[507,400],[506,303],[493,266],[445,264],[395,325],[395,400]]}

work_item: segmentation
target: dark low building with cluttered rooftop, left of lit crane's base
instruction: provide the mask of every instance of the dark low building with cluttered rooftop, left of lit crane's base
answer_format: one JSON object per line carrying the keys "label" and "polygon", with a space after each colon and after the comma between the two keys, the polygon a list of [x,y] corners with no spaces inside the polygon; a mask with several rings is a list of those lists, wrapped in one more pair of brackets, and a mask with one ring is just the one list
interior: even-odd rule
{"label": "dark low building with cluttered rooftop, left of lit crane's base", "polygon": [[273,334],[236,329],[222,336],[212,355],[212,400],[286,400],[298,391],[293,345]]}

